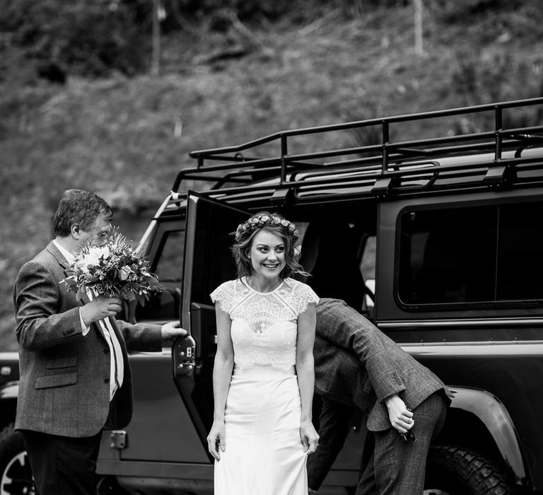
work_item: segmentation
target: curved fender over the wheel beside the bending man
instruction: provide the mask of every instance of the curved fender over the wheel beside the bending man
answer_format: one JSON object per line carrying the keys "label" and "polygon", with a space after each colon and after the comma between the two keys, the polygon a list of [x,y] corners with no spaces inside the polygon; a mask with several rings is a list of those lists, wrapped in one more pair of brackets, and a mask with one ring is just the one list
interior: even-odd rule
{"label": "curved fender over the wheel beside the bending man", "polygon": [[526,479],[522,453],[513,420],[506,407],[486,390],[466,387],[450,387],[453,394],[450,407],[474,414],[488,429],[503,461],[520,481]]}

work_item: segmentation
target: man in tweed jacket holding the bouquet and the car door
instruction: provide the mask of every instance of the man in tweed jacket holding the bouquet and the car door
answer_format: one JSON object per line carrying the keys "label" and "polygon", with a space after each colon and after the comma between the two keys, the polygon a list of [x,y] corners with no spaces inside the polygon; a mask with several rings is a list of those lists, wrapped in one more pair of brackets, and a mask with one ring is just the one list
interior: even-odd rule
{"label": "man in tweed jacket holding the bouquet and the car door", "polygon": [[[40,495],[95,494],[100,432],[122,428],[132,416],[127,349],[160,351],[163,340],[186,334],[176,322],[115,320],[119,298],[80,304],[60,284],[83,243],[105,242],[111,213],[91,192],[66,191],[53,220],[56,238],[16,279],[21,379],[15,428],[23,434]],[[106,318],[110,325],[98,325]]]}

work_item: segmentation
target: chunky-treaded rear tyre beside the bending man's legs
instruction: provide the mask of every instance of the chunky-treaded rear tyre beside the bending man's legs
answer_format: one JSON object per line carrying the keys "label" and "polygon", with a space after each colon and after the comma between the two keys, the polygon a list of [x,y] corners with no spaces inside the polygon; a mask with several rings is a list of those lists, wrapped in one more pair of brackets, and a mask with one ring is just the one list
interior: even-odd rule
{"label": "chunky-treaded rear tyre beside the bending man's legs", "polygon": [[513,495],[518,490],[500,468],[472,450],[436,445],[430,448],[424,495]]}

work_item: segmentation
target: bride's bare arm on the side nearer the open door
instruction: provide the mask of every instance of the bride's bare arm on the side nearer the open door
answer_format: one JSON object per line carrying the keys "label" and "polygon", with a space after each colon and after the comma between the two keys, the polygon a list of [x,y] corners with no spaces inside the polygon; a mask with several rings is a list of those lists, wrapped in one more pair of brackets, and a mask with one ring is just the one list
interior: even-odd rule
{"label": "bride's bare arm on the side nearer the open door", "polygon": [[[217,354],[213,368],[214,416],[213,425],[207,436],[207,448],[216,460],[221,460],[221,451],[226,449],[224,429],[224,409],[226,396],[230,388],[230,379],[234,366],[234,349],[230,337],[230,315],[215,306],[217,321]],[[217,443],[218,441],[218,443]]]}

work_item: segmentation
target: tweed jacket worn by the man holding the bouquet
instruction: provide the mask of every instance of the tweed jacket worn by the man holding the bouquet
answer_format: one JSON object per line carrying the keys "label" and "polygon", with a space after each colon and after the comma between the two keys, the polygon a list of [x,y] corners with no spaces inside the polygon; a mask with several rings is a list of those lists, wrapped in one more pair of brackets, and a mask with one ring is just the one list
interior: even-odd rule
{"label": "tweed jacket worn by the man holding the bouquet", "polygon": [[[75,294],[59,282],[68,264],[54,243],[27,262],[14,287],[19,343],[16,429],[52,435],[93,436],[122,428],[132,417],[127,347],[159,351],[159,325],[129,325],[111,318],[124,361],[124,380],[110,404],[110,351],[98,325],[83,337]],[[109,419],[108,419],[109,417]],[[107,425],[106,425],[107,422]]]}

